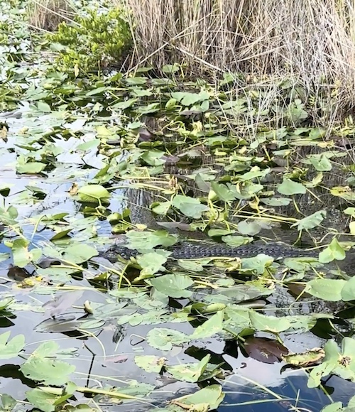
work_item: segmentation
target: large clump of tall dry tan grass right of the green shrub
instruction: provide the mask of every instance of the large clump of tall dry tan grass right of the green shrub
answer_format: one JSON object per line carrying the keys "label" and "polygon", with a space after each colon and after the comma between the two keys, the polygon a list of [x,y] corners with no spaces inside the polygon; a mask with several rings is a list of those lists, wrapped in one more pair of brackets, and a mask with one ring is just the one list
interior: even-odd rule
{"label": "large clump of tall dry tan grass right of the green shrub", "polygon": [[138,65],[287,77],[331,118],[354,104],[354,0],[113,1],[132,11]]}

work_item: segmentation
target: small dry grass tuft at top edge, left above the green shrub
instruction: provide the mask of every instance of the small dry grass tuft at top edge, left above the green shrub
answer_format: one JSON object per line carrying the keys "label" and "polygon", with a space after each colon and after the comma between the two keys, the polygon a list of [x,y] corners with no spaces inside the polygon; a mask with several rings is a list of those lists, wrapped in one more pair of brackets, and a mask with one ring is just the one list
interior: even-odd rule
{"label": "small dry grass tuft at top edge, left above the green shrub", "polygon": [[28,21],[31,26],[45,31],[55,31],[62,21],[70,21],[75,7],[70,0],[28,1]]}

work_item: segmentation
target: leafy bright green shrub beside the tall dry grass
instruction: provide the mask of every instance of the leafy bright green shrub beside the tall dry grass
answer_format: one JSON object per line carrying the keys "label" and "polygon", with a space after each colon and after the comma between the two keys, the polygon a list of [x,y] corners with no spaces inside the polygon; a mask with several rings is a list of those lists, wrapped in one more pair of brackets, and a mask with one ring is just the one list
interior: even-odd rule
{"label": "leafy bright green shrub beside the tall dry grass", "polygon": [[84,72],[97,72],[120,63],[131,47],[131,30],[121,9],[89,11],[75,21],[77,25],[60,23],[58,31],[48,36],[51,43],[63,46],[57,59],[62,70],[77,67]]}

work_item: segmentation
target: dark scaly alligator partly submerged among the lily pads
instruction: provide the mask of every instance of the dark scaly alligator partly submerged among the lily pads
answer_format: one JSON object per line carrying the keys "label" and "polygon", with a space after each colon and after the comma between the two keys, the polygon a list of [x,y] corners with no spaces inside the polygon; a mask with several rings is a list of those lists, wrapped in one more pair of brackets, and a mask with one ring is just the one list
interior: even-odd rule
{"label": "dark scaly alligator partly submerged among the lily pads", "polygon": [[[272,244],[244,244],[242,246],[228,246],[225,244],[196,244],[196,242],[181,242],[170,246],[166,250],[170,251],[169,258],[173,259],[202,259],[211,257],[239,257],[249,258],[258,254],[266,254],[274,259],[288,257],[317,257],[318,251],[311,249],[298,249],[283,243]],[[112,263],[118,260],[118,257],[129,260],[131,257],[136,257],[139,251],[129,249],[121,244],[111,246],[107,251],[104,251],[100,256],[111,261]]]}

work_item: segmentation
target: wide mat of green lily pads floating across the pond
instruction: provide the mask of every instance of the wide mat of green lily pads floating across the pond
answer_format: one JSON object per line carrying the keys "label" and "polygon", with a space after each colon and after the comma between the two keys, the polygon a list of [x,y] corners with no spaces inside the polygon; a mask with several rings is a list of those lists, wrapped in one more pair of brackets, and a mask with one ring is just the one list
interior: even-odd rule
{"label": "wide mat of green lily pads floating across the pond", "polygon": [[[178,64],[158,78],[152,67],[60,71],[43,38],[16,23],[23,4],[2,4],[0,359],[31,382],[21,399],[1,394],[2,409],[96,411],[148,400],[147,411],[212,411],[236,376],[209,350],[219,341],[246,359],[302,369],[310,389],[324,389],[329,374],[355,381],[354,273],[342,266],[355,245],[354,126],[312,125],[312,102],[287,80],[261,108],[266,87],[231,73],[192,82]],[[102,259],[111,234],[138,256]],[[188,238],[241,246],[278,236],[316,256],[170,256]],[[23,313],[42,317],[31,320],[33,336],[17,323]],[[320,329],[322,347],[291,350],[291,337]],[[108,354],[102,335],[112,330]],[[75,339],[62,346],[58,334]],[[88,384],[82,342],[107,368],[93,377],[84,369]],[[161,376],[188,393],[162,399]],[[305,410],[302,391],[289,399],[257,379],[252,389],[250,404],[268,396]],[[342,406],[329,394],[318,410],[327,403],[323,411],[354,408],[354,398]]]}

